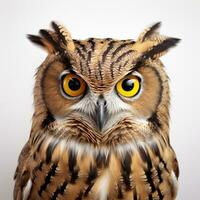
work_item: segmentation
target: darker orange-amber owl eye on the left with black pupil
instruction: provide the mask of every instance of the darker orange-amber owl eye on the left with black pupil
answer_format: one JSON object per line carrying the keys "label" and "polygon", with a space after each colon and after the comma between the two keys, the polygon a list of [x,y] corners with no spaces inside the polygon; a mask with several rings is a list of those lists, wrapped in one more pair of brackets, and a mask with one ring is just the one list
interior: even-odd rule
{"label": "darker orange-amber owl eye on the left with black pupil", "polygon": [[85,81],[76,74],[66,74],[61,80],[63,92],[68,96],[77,97],[82,95],[86,90]]}

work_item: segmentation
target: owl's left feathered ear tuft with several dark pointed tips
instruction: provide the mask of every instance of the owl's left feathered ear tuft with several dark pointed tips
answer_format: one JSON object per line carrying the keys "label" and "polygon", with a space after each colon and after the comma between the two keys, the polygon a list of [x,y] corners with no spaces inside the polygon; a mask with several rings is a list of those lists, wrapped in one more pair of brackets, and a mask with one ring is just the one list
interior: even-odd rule
{"label": "owl's left feathered ear tuft with several dark pointed tips", "polygon": [[54,31],[41,29],[40,36],[27,35],[27,38],[46,49],[48,53],[72,53],[75,46],[69,31],[55,22],[52,22],[52,28]]}

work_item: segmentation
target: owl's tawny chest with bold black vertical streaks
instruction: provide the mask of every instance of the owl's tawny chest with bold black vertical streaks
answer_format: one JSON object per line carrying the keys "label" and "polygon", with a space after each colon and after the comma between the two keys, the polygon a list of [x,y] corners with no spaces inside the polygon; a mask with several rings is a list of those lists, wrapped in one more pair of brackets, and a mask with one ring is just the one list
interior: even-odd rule
{"label": "owl's tawny chest with bold black vertical streaks", "polygon": [[147,149],[116,152],[49,142],[32,154],[27,199],[174,199],[170,163]]}

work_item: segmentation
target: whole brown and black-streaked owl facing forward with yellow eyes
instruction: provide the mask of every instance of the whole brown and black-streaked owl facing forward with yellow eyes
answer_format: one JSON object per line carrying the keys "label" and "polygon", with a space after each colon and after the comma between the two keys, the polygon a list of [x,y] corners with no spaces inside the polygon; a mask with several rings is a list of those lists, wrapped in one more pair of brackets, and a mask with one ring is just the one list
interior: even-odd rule
{"label": "whole brown and black-streaked owl facing forward with yellow eyes", "polygon": [[35,76],[15,200],[176,198],[179,168],[160,57],[179,39],[161,35],[160,24],[137,40],[76,40],[55,22],[28,35],[48,56]]}

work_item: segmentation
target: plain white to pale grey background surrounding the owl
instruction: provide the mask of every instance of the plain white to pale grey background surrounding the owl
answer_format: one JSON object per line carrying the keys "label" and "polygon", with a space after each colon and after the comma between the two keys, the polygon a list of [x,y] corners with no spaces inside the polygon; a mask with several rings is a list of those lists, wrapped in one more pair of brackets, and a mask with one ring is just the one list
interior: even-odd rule
{"label": "plain white to pale grey background surrounding the owl", "polygon": [[17,158],[29,137],[36,68],[45,52],[25,38],[62,22],[74,38],[137,38],[153,22],[182,42],[162,58],[170,77],[171,143],[180,163],[178,200],[200,199],[199,0],[0,0],[0,199],[12,199]]}

